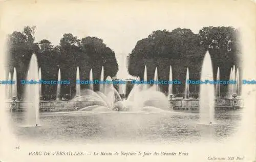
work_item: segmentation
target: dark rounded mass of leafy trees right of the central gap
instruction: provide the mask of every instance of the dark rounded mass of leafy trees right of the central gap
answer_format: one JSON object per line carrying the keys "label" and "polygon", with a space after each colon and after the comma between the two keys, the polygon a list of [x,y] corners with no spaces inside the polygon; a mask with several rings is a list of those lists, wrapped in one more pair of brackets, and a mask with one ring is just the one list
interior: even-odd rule
{"label": "dark rounded mass of leafy trees right of the central gap", "polygon": [[[174,93],[183,93],[185,88],[186,69],[189,68],[189,79],[200,79],[202,61],[206,51],[212,59],[214,78],[220,67],[220,79],[228,80],[233,65],[240,65],[241,51],[239,30],[233,27],[203,27],[198,34],[190,29],[177,28],[173,31],[157,30],[147,38],[139,40],[129,54],[129,74],[143,79],[144,66],[147,66],[148,79],[154,79],[155,68],[158,68],[158,79],[169,79],[169,67],[172,65],[173,78],[183,84],[174,85]],[[241,74],[241,73],[240,73]],[[162,86],[168,91],[168,85]],[[191,92],[198,92],[200,86],[190,86]],[[227,87],[221,85],[221,92]]]}

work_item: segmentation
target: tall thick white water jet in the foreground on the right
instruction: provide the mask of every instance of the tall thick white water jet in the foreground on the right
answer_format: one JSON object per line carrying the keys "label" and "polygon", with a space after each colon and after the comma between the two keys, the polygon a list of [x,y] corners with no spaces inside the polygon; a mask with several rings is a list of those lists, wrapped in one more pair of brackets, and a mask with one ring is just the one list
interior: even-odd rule
{"label": "tall thick white water jet in the foreground on the right", "polygon": [[[207,51],[202,65],[201,80],[211,80],[213,78],[210,54]],[[214,124],[215,112],[215,91],[212,84],[200,85],[199,115],[200,124]]]}

